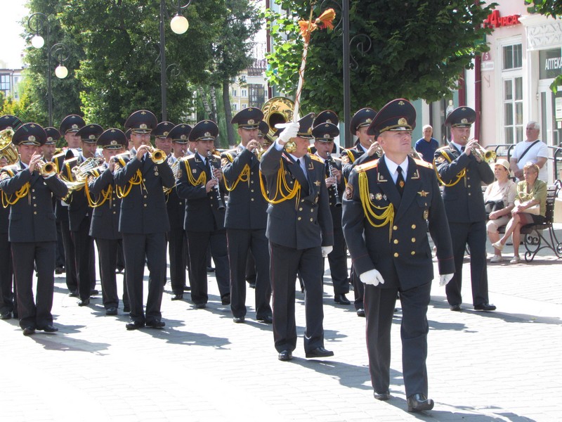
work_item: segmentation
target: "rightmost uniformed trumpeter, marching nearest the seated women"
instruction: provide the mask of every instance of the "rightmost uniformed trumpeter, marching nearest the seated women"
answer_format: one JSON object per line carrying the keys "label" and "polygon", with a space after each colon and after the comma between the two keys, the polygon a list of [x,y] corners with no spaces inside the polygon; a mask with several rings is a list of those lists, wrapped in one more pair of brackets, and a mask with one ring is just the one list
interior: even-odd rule
{"label": "rightmost uniformed trumpeter, marching nearest the seated women", "polygon": [[488,300],[488,269],[486,268],[486,213],[482,183],[494,181],[494,172],[488,162],[474,154],[478,141],[469,141],[476,112],[470,107],[459,107],[447,116],[445,124],[451,127],[451,142],[438,148],[434,165],[439,179],[445,185],[443,202],[451,231],[455,255],[455,276],[447,284],[447,302],[452,311],[460,311],[462,304],[462,261],[466,245],[470,248],[470,274],[474,309],[493,311]]}

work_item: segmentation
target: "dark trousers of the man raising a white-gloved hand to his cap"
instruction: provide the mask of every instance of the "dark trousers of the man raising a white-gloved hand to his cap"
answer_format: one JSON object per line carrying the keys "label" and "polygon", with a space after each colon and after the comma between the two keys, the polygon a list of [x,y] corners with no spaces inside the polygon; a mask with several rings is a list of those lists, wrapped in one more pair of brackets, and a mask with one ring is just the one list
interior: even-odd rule
{"label": "dark trousers of the man raising a white-gloved hand to his cap", "polygon": [[306,327],[304,350],[324,347],[324,309],[322,307],[322,248],[294,249],[269,243],[270,279],[273,290],[273,339],[275,350],[294,350],[296,272],[303,280]]}

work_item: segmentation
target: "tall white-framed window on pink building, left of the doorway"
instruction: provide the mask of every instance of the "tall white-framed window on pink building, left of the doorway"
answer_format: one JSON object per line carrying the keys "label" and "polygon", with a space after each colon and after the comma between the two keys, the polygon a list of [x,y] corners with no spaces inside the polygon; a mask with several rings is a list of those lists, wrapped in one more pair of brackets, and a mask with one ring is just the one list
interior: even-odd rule
{"label": "tall white-framed window on pink building, left of the doorway", "polygon": [[502,45],[504,143],[523,141],[523,51],[521,43]]}

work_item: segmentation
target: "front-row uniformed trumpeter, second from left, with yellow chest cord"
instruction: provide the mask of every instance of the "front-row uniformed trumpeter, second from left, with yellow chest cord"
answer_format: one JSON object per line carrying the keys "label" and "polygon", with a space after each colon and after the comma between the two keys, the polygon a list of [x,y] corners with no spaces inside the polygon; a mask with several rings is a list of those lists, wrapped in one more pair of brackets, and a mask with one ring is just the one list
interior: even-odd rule
{"label": "front-row uniformed trumpeter, second from left, with yellow chest cord", "polygon": [[[164,188],[174,186],[174,174],[167,160],[157,164],[150,153],[150,132],[156,116],[148,110],[131,114],[125,127],[131,129],[134,148],[131,158],[121,158],[115,170],[117,194],[122,197],[119,231],[123,236],[127,293],[131,322],[127,330],[145,325],[162,328],[162,292],[166,281],[166,232],[170,229]],[[145,262],[150,276],[146,314],[143,309]]]}

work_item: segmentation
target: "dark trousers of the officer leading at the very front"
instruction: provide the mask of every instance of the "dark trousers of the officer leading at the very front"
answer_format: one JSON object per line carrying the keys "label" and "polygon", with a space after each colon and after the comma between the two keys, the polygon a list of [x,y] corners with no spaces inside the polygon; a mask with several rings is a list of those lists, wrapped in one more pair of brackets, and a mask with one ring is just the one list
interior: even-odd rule
{"label": "dark trousers of the officer leading at the very front", "polygon": [[[402,322],[402,371],[406,397],[421,393],[427,396],[427,307],[431,283],[400,290]],[[390,385],[391,327],[398,288],[365,286],[367,319],[367,353],[375,392],[386,392]]]}

